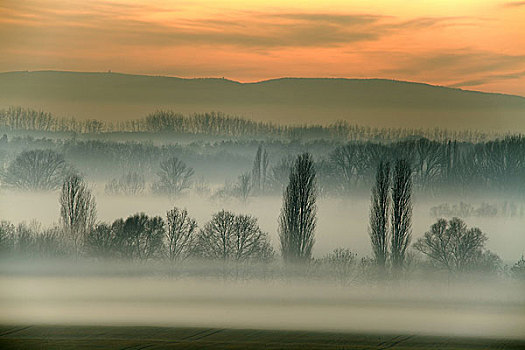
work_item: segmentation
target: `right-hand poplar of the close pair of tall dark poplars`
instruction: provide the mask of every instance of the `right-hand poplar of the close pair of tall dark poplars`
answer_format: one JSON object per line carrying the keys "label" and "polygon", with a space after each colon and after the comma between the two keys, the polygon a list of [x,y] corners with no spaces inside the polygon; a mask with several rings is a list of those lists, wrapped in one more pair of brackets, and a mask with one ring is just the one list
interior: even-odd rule
{"label": "right-hand poplar of the close pair of tall dark poplars", "polygon": [[392,266],[402,268],[412,226],[412,171],[404,159],[396,161],[392,180]]}

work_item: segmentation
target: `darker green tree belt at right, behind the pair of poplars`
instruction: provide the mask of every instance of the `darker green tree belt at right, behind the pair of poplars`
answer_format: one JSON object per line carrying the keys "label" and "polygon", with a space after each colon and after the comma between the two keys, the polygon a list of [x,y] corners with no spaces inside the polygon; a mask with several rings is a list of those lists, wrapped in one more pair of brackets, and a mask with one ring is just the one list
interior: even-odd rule
{"label": "darker green tree belt at right, behind the pair of poplars", "polygon": [[349,143],[330,155],[344,189],[370,183],[382,160],[405,159],[419,188],[452,187],[515,191],[525,176],[525,139],[521,136],[471,144],[420,138],[395,142]]}

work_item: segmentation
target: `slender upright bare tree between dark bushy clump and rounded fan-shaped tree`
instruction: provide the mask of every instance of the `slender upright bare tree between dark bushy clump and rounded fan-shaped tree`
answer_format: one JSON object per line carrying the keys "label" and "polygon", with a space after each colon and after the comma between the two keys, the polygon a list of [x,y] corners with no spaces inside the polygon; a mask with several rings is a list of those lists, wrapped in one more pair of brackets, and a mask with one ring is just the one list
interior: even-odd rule
{"label": "slender upright bare tree between dark bushy clump and rounded fan-shaped tree", "polygon": [[166,215],[166,247],[170,261],[185,260],[195,243],[197,222],[186,209],[173,208]]}

